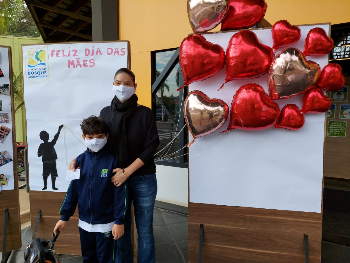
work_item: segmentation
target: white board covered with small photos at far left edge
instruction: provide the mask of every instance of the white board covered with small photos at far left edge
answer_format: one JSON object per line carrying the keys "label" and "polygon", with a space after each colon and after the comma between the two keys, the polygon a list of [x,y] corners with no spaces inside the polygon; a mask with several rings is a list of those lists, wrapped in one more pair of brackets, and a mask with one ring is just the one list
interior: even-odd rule
{"label": "white board covered with small photos at far left edge", "polygon": [[[13,190],[12,114],[8,47],[0,47],[0,190]],[[5,179],[6,178],[6,179]]]}

